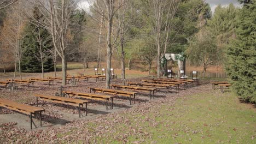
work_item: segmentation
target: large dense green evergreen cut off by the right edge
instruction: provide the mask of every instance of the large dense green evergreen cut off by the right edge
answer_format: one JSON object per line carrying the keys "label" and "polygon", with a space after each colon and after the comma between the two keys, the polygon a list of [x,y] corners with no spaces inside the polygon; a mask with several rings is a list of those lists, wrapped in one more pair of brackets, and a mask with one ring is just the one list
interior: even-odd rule
{"label": "large dense green evergreen cut off by the right edge", "polygon": [[238,16],[237,38],[228,48],[226,73],[232,88],[243,100],[256,102],[256,3],[243,5]]}

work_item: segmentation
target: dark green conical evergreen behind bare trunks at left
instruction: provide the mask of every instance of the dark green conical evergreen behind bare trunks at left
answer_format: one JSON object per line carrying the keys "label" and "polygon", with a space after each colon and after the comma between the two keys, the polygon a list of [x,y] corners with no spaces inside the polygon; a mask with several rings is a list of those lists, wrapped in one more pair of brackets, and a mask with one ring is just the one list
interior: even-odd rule
{"label": "dark green conical evergreen behind bare trunks at left", "polygon": [[[25,37],[22,45],[23,57],[21,61],[21,69],[24,72],[38,73],[42,71],[42,63],[40,55],[43,57],[43,71],[53,70],[53,59],[49,57],[49,49],[52,49],[53,44],[50,33],[47,29],[40,26],[43,23],[43,15],[40,14],[37,8],[33,11],[33,17],[25,26]],[[39,23],[39,24],[38,24]],[[40,39],[40,41],[39,41]],[[42,51],[40,52],[40,46]]]}

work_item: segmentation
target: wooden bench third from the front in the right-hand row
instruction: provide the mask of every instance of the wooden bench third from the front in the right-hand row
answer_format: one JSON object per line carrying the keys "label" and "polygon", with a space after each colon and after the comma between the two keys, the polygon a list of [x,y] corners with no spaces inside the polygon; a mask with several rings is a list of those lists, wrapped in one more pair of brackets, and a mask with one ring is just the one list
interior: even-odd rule
{"label": "wooden bench third from the front in the right-hand row", "polygon": [[80,97],[85,99],[93,99],[93,100],[106,100],[106,110],[108,110],[108,102],[111,99],[111,109],[113,109],[113,98],[114,95],[103,95],[103,94],[95,94],[95,93],[79,93],[72,91],[62,91],[62,93],[69,95],[69,97]]}

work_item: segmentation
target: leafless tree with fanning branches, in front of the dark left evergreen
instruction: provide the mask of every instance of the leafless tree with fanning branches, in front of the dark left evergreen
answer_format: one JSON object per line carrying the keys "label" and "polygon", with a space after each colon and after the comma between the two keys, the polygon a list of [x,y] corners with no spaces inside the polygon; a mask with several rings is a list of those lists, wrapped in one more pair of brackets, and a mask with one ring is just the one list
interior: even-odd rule
{"label": "leafless tree with fanning branches, in front of the dark left evergreen", "polygon": [[[72,11],[77,7],[75,0],[49,0],[36,1],[39,9],[44,9],[42,14],[49,16],[44,27],[49,29],[53,38],[53,44],[56,52],[61,57],[62,62],[62,85],[66,85],[67,61],[66,49],[68,46],[67,32],[71,23]],[[46,12],[46,14],[45,14]]]}

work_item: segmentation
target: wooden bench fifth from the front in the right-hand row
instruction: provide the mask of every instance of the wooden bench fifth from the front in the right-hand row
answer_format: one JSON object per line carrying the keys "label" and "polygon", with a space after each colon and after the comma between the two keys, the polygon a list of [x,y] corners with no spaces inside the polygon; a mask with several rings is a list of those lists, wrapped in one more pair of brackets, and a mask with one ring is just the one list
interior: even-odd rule
{"label": "wooden bench fifth from the front in the right-hand row", "polygon": [[121,85],[110,85],[110,87],[131,89],[132,91],[149,92],[150,99],[154,98],[154,92],[156,91],[156,88],[149,88],[149,87],[133,87],[133,86],[121,86]]}

